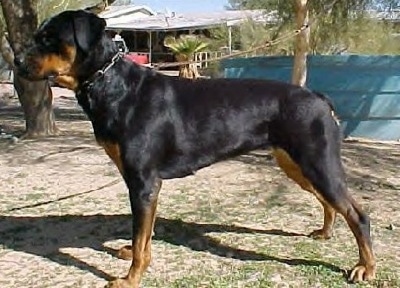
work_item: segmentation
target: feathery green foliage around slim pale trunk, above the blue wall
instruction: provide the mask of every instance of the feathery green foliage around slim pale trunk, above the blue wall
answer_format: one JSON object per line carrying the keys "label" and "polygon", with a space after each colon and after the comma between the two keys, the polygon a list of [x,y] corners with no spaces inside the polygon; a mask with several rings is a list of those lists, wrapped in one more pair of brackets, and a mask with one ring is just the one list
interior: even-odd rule
{"label": "feathery green foliage around slim pale trunk, above the blue wall", "polygon": [[[296,1],[230,0],[229,3],[229,9],[265,9],[267,12],[276,11],[279,21],[276,25],[268,27],[269,30],[275,30],[275,32],[269,31],[272,38],[276,37],[274,35],[280,32],[290,31],[296,27],[294,21],[296,19]],[[310,53],[332,54],[350,49],[353,49],[352,52],[358,52],[356,49],[363,43],[356,41],[363,39],[357,37],[359,33],[355,29],[360,27],[359,23],[361,22],[363,23],[361,27],[376,30],[377,33],[375,33],[374,38],[379,38],[376,42],[377,46],[367,47],[361,45],[369,48],[367,51],[362,50],[361,53],[363,53],[382,51],[382,44],[378,45],[379,43],[388,44],[390,41],[393,42],[393,39],[389,39],[390,33],[379,33],[380,31],[391,29],[390,24],[366,17],[368,16],[368,11],[371,9],[392,11],[400,7],[400,0],[318,0],[308,1],[307,7],[311,23]],[[288,41],[276,46],[275,51],[279,50],[294,51],[294,46]]]}

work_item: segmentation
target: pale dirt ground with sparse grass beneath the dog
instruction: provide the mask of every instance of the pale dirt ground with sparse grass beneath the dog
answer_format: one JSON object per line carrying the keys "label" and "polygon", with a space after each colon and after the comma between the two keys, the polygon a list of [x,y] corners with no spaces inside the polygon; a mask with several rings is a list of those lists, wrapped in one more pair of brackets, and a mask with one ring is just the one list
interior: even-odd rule
{"label": "pale dirt ground with sparse grass beneath the dog", "polygon": [[[0,127],[18,134],[24,123],[12,87],[1,85],[0,95]],[[2,288],[103,287],[129,267],[113,254],[129,243],[126,188],[73,94],[55,95],[59,136],[0,138]],[[379,270],[368,287],[396,287],[400,145],[346,141],[343,160],[350,191],[372,221]],[[330,241],[305,237],[321,225],[319,204],[265,151],[165,181],[160,198],[143,287],[346,287],[340,271],[357,260],[342,220]]]}

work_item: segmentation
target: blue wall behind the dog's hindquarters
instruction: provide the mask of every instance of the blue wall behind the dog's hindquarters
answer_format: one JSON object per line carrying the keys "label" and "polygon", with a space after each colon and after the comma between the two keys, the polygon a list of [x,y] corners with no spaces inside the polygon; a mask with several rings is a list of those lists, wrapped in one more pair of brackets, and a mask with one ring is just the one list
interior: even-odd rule
{"label": "blue wall behind the dog's hindquarters", "polygon": [[[290,82],[293,57],[255,57],[221,63],[227,78]],[[309,56],[307,87],[334,102],[345,136],[400,139],[399,56]]]}

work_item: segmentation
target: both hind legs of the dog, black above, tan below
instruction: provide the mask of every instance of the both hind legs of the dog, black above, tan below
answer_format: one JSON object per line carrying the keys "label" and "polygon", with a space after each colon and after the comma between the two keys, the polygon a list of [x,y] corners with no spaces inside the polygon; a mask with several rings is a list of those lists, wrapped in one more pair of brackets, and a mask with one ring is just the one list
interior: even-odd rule
{"label": "both hind legs of the dog, black above, tan below", "polygon": [[320,152],[316,154],[318,157],[303,155],[301,160],[296,162],[283,149],[274,149],[273,155],[288,177],[304,190],[312,192],[324,207],[324,226],[311,233],[311,236],[329,238],[332,235],[336,212],[342,214],[359,248],[359,261],[351,271],[349,280],[352,282],[370,280],[375,277],[376,263],[372,251],[369,217],[347,192],[339,156],[340,148],[330,148],[330,151],[326,147],[324,151],[318,151]]}

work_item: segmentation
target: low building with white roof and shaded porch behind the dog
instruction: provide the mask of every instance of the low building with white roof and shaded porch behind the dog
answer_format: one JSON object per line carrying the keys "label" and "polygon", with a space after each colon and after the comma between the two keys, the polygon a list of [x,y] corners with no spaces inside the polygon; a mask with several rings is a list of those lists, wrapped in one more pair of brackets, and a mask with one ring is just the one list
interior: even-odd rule
{"label": "low building with white roof and shaded porch behind the dog", "polygon": [[[181,34],[203,34],[212,28],[226,26],[229,39],[226,43],[227,53],[232,51],[232,27],[252,19],[265,23],[276,21],[273,13],[263,10],[218,11],[211,13],[174,12],[154,13],[146,6],[111,5],[100,14],[107,21],[107,30],[121,35],[129,50],[137,53],[148,53],[149,62],[173,61],[173,55],[163,45],[168,35],[175,37]],[[208,33],[209,34],[209,33]]]}

